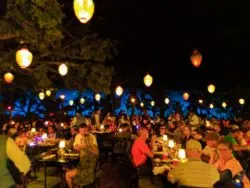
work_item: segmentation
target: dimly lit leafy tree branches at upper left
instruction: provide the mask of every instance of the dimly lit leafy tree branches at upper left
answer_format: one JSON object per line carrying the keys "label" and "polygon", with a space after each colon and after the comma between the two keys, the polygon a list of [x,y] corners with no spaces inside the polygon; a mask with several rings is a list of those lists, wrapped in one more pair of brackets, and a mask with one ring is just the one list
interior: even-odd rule
{"label": "dimly lit leafy tree branches at upper left", "polygon": [[[114,69],[105,62],[116,55],[116,43],[99,37],[90,25],[76,22],[64,8],[56,0],[7,0],[7,11],[0,19],[0,73],[14,73],[14,88],[41,90],[59,83],[60,87],[109,93]],[[23,45],[33,53],[27,69],[15,63],[16,50]],[[65,77],[57,71],[61,63],[69,67]]]}

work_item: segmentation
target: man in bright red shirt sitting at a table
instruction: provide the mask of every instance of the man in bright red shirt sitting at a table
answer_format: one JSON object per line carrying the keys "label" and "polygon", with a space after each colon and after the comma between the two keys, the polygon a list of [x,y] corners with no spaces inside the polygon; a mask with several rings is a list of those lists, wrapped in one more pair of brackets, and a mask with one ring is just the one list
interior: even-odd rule
{"label": "man in bright red shirt sitting at a table", "polygon": [[145,127],[138,130],[138,138],[134,141],[131,154],[135,167],[141,167],[146,164],[147,157],[153,158],[154,154],[146,144],[149,132]]}

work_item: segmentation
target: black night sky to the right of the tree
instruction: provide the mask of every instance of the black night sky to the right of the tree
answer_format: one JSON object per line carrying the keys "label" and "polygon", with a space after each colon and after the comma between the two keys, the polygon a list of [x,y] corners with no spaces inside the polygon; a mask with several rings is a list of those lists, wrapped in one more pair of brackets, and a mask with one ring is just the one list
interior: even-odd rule
{"label": "black night sky to the right of the tree", "polygon": [[[73,0],[60,0],[74,16]],[[118,41],[114,85],[143,88],[143,76],[154,77],[152,89],[217,91],[249,87],[250,13],[240,1],[95,0],[89,24]],[[1,0],[0,12],[4,10]],[[75,20],[76,24],[78,21]],[[190,62],[197,48],[200,68]]]}

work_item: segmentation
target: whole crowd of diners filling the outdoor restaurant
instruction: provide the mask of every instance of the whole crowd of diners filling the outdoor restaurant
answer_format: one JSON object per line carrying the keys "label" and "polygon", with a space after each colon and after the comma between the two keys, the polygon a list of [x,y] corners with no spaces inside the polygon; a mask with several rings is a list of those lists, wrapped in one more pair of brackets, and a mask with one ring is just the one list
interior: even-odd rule
{"label": "whole crowd of diners filling the outdoor restaurant", "polygon": [[[80,153],[79,164],[66,172],[68,187],[74,187],[77,181],[88,181],[100,155],[93,134],[96,131],[106,131],[132,141],[129,154],[140,174],[138,177],[152,175],[150,161],[155,156],[154,146],[167,135],[186,150],[188,158],[165,174],[168,182],[192,187],[230,187],[239,180],[234,181],[235,177],[241,176],[238,183],[250,187],[250,120],[207,119],[194,111],[189,111],[187,117],[179,112],[168,118],[150,118],[147,113],[130,117],[125,113],[103,116],[101,110],[97,110],[90,117],[77,112],[68,122],[53,118],[32,122],[14,118],[2,125],[1,131],[0,187],[3,188],[24,187],[31,168],[26,148],[35,138],[45,134],[47,142],[58,144],[60,140],[66,140],[67,148]],[[225,172],[232,176],[230,181],[224,181],[222,175]]]}

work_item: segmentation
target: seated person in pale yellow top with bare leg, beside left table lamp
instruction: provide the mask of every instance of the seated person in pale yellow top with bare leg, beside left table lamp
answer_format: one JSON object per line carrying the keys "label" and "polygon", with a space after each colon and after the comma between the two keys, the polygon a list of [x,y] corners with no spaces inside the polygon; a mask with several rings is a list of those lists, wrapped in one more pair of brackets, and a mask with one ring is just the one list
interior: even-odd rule
{"label": "seated person in pale yellow top with bare leg, beside left table lamp", "polygon": [[80,152],[80,163],[77,168],[66,172],[68,188],[72,188],[74,182],[88,185],[94,181],[94,173],[99,150],[96,137],[89,133],[85,123],[79,125],[79,133],[75,137],[74,148]]}

